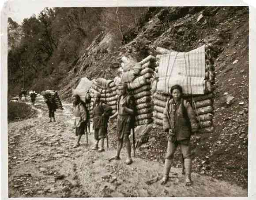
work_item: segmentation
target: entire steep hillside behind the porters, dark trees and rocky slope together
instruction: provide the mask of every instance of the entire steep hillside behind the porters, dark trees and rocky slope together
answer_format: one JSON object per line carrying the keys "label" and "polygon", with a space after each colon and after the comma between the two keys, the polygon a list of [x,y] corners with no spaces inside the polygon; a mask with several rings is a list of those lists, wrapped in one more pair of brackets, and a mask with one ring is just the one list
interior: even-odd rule
{"label": "entire steep hillside behind the porters, dark trees and rocky slope together", "polygon": [[[28,69],[27,88],[56,89],[68,99],[80,77],[117,76],[122,56],[141,61],[156,47],[190,51],[211,42],[216,131],[202,135],[193,169],[247,188],[248,26],[248,7],[46,8],[22,25],[9,20],[9,33],[20,36],[9,42],[9,93],[21,87],[22,67]],[[226,95],[234,97],[231,105]],[[166,137],[156,127],[140,156],[162,162],[165,148]]]}

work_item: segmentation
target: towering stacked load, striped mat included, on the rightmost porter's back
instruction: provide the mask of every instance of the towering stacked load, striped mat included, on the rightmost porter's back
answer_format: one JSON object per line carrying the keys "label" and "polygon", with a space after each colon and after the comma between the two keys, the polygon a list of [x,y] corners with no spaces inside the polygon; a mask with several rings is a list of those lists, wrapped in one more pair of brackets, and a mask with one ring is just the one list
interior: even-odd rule
{"label": "towering stacked load, striped mat included, on the rightmost porter's back", "polygon": [[[200,50],[199,50],[200,49]],[[194,52],[192,52],[194,51]],[[184,99],[187,99],[197,116],[197,120],[200,124],[200,133],[210,133],[214,131],[214,126],[213,126],[213,116],[214,116],[214,108],[213,108],[213,102],[214,102],[214,84],[215,84],[215,67],[214,67],[214,60],[211,56],[211,44],[207,44],[203,47],[200,47],[196,50],[192,50],[192,54],[188,53],[183,53],[182,56],[186,58],[185,61],[185,66],[186,69],[183,72],[183,75],[185,73],[186,76],[182,76],[182,72],[178,71],[183,70],[181,67],[181,61],[177,59],[178,52],[175,51],[169,51],[167,49],[163,49],[158,47],[157,52],[157,69],[158,69],[158,75],[159,75],[159,81],[157,83],[157,91],[153,95],[153,101],[154,101],[154,122],[157,125],[162,126],[162,116],[163,116],[163,111],[166,106],[166,101],[169,98],[169,90],[172,85],[174,84],[180,84],[183,87],[183,92],[184,92]],[[198,54],[198,52],[200,53]],[[202,54],[203,52],[203,57],[201,56],[201,60],[199,60],[199,55]],[[173,54],[175,56],[175,59],[168,59],[168,55],[166,54]],[[182,52],[179,52],[179,54],[182,54]],[[193,55],[194,54],[194,55]],[[165,77],[163,77],[163,68],[164,64],[166,64],[166,61],[164,60],[165,58],[162,57],[162,55],[167,56],[167,62],[170,64],[171,69],[165,70]],[[196,59],[193,59],[193,56],[198,56]],[[165,56],[165,57],[166,57]],[[203,60],[202,60],[203,59]],[[175,61],[176,64],[173,62]],[[177,63],[179,62],[179,63]],[[200,69],[193,69],[194,67],[198,66],[204,66],[203,68],[201,67]],[[168,68],[166,65],[165,67]],[[175,69],[179,68],[179,69]],[[162,70],[162,71],[161,71]],[[171,74],[169,72],[177,71],[177,73]],[[191,72],[193,70],[193,72]],[[200,76],[197,76],[199,78],[195,78],[192,76],[192,73],[195,73],[196,70],[199,71]],[[203,70],[203,71],[202,71]],[[162,74],[161,74],[162,73]],[[167,75],[167,76],[166,76]],[[180,80],[178,80],[180,79]]]}

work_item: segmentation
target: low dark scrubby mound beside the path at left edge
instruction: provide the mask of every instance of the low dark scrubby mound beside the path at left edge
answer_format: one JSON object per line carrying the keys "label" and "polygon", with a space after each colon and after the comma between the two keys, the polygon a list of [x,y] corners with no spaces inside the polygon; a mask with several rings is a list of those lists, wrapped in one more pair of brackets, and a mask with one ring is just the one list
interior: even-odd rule
{"label": "low dark scrubby mound beside the path at left edge", "polygon": [[23,102],[8,102],[8,123],[35,116],[36,111]]}

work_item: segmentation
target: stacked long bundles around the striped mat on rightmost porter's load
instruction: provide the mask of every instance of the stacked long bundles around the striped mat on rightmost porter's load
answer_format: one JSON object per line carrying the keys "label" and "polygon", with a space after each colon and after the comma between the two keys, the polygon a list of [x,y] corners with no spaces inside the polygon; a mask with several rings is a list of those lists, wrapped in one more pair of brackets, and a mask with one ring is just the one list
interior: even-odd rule
{"label": "stacked long bundles around the striped mat on rightmost porter's load", "polygon": [[[161,54],[167,54],[173,51],[163,49],[158,47],[157,52]],[[157,56],[158,58],[158,56]],[[159,65],[159,61],[156,62],[156,65]],[[184,94],[183,98],[187,99],[192,105],[197,120],[200,124],[200,133],[210,133],[214,131],[213,126],[213,116],[214,108],[213,102],[215,97],[215,67],[214,60],[211,57],[211,44],[205,45],[205,78],[203,80],[204,85],[204,94],[203,95],[191,95]],[[168,94],[166,92],[157,91],[153,95],[154,101],[154,122],[157,125],[162,126],[162,116],[163,110],[166,106],[166,101],[168,99]]]}

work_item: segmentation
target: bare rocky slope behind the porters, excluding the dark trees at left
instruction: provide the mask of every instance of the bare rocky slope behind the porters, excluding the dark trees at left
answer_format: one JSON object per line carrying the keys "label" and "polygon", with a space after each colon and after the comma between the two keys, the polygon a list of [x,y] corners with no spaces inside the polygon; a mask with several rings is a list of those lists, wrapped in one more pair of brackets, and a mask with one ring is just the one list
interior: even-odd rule
{"label": "bare rocky slope behind the porters, excluding the dark trees at left", "polygon": [[[211,42],[216,58],[216,131],[202,135],[194,169],[204,175],[247,187],[248,156],[248,7],[153,7],[129,43],[112,48],[110,33],[102,32],[73,63],[60,81],[63,98],[71,96],[79,78],[117,76],[122,56],[140,61],[155,55],[156,47],[190,51]],[[229,104],[226,99],[232,99]],[[155,130],[156,129],[156,130]],[[162,162],[166,137],[155,128],[149,142],[140,147],[141,157]],[[152,151],[148,152],[148,148]],[[144,150],[143,150],[144,149]],[[144,152],[144,153],[143,153]],[[178,158],[179,159],[179,156]]]}

